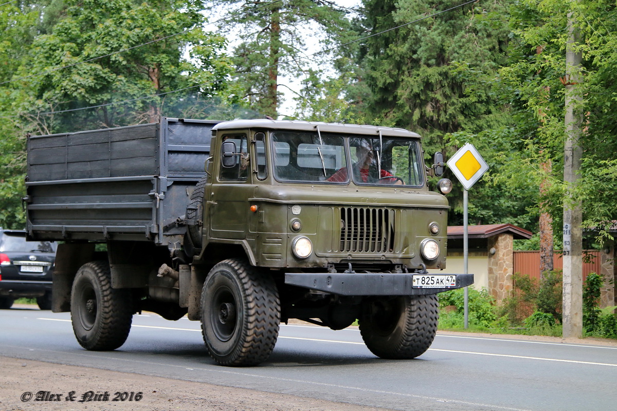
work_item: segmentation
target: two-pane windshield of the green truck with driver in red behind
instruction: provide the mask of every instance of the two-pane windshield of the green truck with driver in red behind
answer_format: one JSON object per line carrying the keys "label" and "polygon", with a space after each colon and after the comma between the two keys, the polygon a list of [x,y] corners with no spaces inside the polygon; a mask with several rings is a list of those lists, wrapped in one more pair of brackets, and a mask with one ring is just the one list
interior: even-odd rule
{"label": "two-pane windshield of the green truck with driver in red behind", "polygon": [[277,131],[272,141],[279,181],[348,184],[351,178],[358,185],[424,184],[416,140]]}

